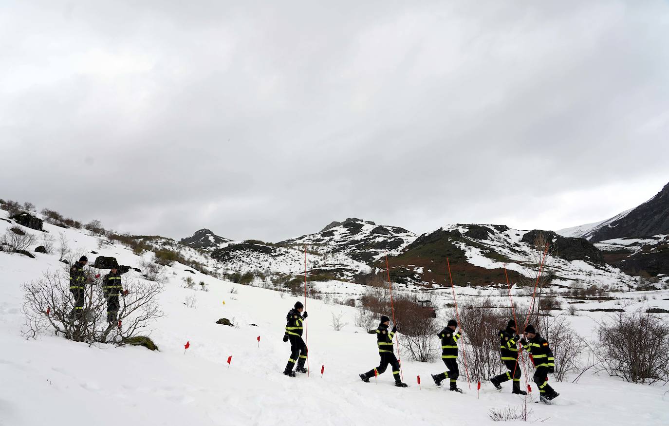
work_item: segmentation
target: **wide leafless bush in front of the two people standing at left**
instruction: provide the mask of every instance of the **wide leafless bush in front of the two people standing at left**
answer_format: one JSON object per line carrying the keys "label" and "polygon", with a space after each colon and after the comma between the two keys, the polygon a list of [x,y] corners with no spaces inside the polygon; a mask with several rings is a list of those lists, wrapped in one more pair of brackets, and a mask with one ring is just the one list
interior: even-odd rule
{"label": "wide leafless bush in front of the two people standing at left", "polygon": [[45,272],[41,278],[21,286],[24,292],[22,312],[26,318],[24,336],[35,338],[44,332],[77,342],[121,345],[138,336],[153,320],[163,316],[157,298],[163,291],[158,283],[125,282],[128,295],[122,298],[117,324],[106,321],[106,298],[101,280],[88,275],[82,317],[72,315],[74,298],[70,283],[62,272]]}

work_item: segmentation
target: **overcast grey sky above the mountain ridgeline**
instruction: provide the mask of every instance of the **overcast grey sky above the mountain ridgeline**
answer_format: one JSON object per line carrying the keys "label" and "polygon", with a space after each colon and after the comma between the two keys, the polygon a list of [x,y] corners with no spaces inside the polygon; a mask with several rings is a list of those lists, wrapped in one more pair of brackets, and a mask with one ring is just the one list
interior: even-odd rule
{"label": "overcast grey sky above the mountain ridgeline", "polygon": [[669,182],[668,40],[666,1],[3,1],[0,198],[177,239],[599,221]]}

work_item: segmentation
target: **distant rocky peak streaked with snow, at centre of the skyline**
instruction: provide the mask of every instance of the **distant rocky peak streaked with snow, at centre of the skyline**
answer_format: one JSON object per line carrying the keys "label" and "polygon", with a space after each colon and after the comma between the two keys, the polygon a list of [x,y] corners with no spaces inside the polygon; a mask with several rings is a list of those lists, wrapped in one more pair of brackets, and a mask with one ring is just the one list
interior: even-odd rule
{"label": "distant rocky peak streaked with snow, at centre of the skyline", "polygon": [[377,225],[355,217],[332,222],[320,232],[282,241],[289,245],[308,245],[322,253],[345,253],[351,258],[371,263],[396,255],[416,239],[413,232],[401,227]]}

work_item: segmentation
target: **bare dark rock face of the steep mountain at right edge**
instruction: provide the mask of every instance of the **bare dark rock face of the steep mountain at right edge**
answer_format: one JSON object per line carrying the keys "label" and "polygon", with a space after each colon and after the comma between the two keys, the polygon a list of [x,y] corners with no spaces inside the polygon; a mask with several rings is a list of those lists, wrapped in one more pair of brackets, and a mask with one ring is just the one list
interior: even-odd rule
{"label": "bare dark rock face of the steep mountain at right edge", "polygon": [[655,197],[624,217],[612,221],[585,237],[598,242],[621,237],[647,237],[669,233],[669,183]]}

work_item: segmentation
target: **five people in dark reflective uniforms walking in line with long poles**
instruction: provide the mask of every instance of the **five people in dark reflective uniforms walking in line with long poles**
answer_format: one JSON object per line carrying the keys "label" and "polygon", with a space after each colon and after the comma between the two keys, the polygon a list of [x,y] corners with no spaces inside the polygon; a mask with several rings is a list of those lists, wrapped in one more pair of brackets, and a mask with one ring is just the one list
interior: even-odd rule
{"label": "five people in dark reflective uniforms walking in line with long poles", "polygon": [[[307,346],[302,340],[302,331],[304,330],[304,320],[307,318],[307,313],[303,312],[304,306],[297,302],[292,310],[286,316],[286,332],[284,334],[284,342],[290,340],[290,358],[284,375],[295,377],[296,372],[307,372],[304,368],[304,362],[307,358]],[[391,366],[393,378],[395,379],[395,386],[407,387],[406,383],[401,381],[399,361],[393,351],[393,337],[397,332],[397,327],[390,328],[390,318],[383,315],[379,321],[379,327],[376,330],[369,330],[369,334],[375,334],[377,337],[377,347],[379,349],[379,357],[381,358],[379,366],[372,368],[367,372],[363,372],[360,379],[369,383],[369,379],[383,374],[388,366]],[[548,375],[555,372],[555,356],[551,351],[549,342],[539,335],[532,324],[527,325],[522,337],[518,333],[516,322],[509,320],[504,330],[500,330],[500,358],[506,366],[507,372],[501,375],[491,377],[490,383],[498,390],[502,389],[502,383],[511,381],[511,392],[517,395],[527,395],[527,392],[520,389],[521,368],[518,364],[518,343],[522,350],[530,354],[530,358],[535,366],[535,374],[533,381],[539,388],[539,397],[542,401],[549,403],[560,395],[548,384]],[[432,375],[435,385],[442,386],[442,383],[448,379],[450,390],[462,393],[462,389],[458,388],[458,377],[460,371],[458,369],[458,340],[462,338],[462,331],[458,330],[458,322],[456,320],[448,321],[444,330],[437,334],[437,337],[442,341],[442,360],[446,364],[446,371]],[[297,364],[297,368],[293,370]]]}

